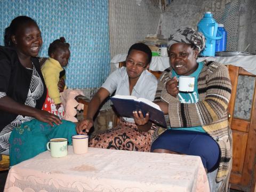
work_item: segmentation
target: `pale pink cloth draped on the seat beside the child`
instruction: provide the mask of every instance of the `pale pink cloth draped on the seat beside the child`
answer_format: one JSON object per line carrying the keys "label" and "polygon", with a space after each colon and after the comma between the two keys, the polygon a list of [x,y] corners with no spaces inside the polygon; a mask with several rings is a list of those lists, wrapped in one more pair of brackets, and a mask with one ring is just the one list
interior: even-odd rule
{"label": "pale pink cloth draped on the seat beside the child", "polygon": [[84,93],[79,89],[66,89],[62,93],[60,93],[61,101],[65,108],[65,115],[63,116],[63,119],[67,121],[78,122],[77,118],[75,117],[77,114],[77,110],[81,110],[84,108],[84,105],[82,103],[78,103],[75,100],[75,97],[77,95],[84,96]]}

